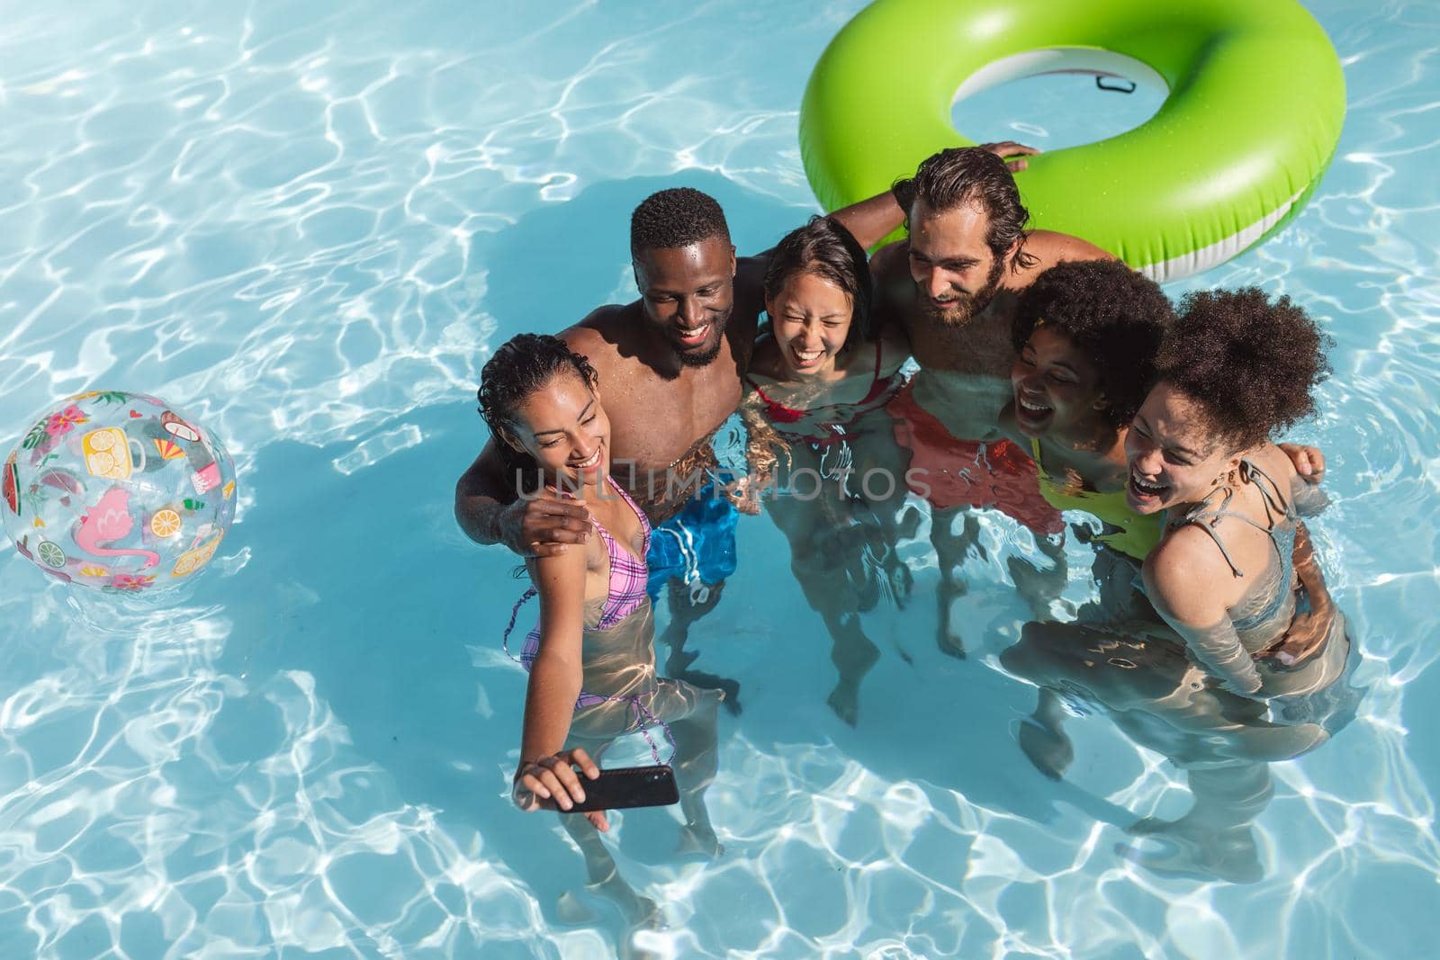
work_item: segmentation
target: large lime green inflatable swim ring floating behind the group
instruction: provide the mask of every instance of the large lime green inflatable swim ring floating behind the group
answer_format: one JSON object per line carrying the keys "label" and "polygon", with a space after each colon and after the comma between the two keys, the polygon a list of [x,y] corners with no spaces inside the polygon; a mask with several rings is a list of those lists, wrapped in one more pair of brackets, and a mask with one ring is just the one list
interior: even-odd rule
{"label": "large lime green inflatable swim ring floating behind the group", "polygon": [[1032,226],[1156,281],[1284,226],[1345,117],[1339,58],[1295,0],[877,0],[811,73],[805,173],[827,210],[880,193],[937,150],[973,142],[950,125],[956,99],[1060,69],[1169,91],[1140,127],[1031,157],[1015,177]]}

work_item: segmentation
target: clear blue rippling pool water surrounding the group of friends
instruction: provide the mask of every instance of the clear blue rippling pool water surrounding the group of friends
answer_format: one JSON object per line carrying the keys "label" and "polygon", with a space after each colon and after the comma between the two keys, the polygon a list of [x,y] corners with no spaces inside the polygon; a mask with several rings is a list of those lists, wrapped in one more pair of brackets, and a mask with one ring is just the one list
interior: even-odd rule
{"label": "clear blue rippling pool water surrounding the group of friends", "polygon": [[[6,4],[0,436],[79,390],[154,393],[242,486],[215,569],[164,603],[0,558],[0,956],[616,951],[613,908],[566,897],[562,830],[508,806],[518,586],[451,518],[472,390],[511,332],[632,296],[651,190],[711,191],[742,250],[801,222],[801,91],[858,6]],[[668,813],[622,818],[622,869],[670,921],[638,946],[1433,956],[1440,14],[1310,9],[1345,62],[1335,163],[1284,233],[1185,285],[1289,292],[1336,338],[1302,438],[1329,455],[1315,534],[1369,694],[1273,766],[1263,879],[1128,855],[1125,826],[1189,792],[1104,717],[1071,723],[1066,782],[1025,761],[1034,689],[996,664],[1025,612],[996,560],[966,566],[962,662],[935,649],[924,537],[904,544],[916,600],[865,615],[881,659],[841,723],[788,544],[747,518],[691,643],[743,684],[710,793],[726,853],[675,859]]]}

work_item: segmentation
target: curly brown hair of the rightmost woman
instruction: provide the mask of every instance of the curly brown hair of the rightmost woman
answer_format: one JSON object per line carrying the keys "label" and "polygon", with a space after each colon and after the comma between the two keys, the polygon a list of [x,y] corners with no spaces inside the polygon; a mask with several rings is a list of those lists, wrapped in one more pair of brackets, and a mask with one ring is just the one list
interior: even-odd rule
{"label": "curly brown hair of the rightmost woman", "polygon": [[1195,400],[1230,449],[1247,450],[1315,413],[1332,343],[1289,296],[1272,301],[1257,286],[1189,294],[1156,379]]}

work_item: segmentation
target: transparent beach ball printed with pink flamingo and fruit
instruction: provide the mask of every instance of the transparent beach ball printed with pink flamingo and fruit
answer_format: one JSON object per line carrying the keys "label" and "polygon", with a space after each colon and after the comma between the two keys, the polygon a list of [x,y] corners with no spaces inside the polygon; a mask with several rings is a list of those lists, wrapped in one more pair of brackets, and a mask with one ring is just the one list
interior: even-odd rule
{"label": "transparent beach ball printed with pink flamingo and fruit", "polygon": [[6,533],[52,577],[108,593],[174,586],[235,517],[235,465],[203,426],[143,393],[46,410],[4,462]]}

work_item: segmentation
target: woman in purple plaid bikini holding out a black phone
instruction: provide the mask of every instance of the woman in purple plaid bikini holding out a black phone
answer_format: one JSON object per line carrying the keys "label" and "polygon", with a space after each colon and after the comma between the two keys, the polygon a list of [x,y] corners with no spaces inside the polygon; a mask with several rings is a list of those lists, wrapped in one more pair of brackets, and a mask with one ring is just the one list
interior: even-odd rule
{"label": "woman in purple plaid bikini holding out a black phone", "polygon": [[[655,675],[654,619],[645,593],[649,521],[609,478],[609,419],[599,377],[559,337],[520,334],[485,364],[480,406],[491,432],[518,463],[530,465],[534,497],[580,501],[598,537],[583,547],[527,560],[533,587],[511,612],[540,597],[540,623],[526,638],[520,662],[530,671],[514,802],[523,810],[569,812],[585,802],[585,780],[599,777],[590,753],[616,737],[641,733],[661,763],[654,730],[678,761],[683,842],[714,852],[704,806],[716,771],[719,691]],[[518,476],[520,474],[517,474]],[[521,492],[521,491],[517,491]],[[580,773],[576,771],[580,767]],[[613,858],[595,830],[608,830],[603,810],[566,816],[585,853],[592,884],[641,921],[655,905],[619,879]]]}

